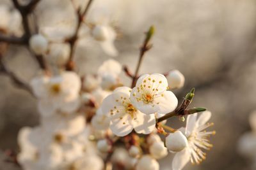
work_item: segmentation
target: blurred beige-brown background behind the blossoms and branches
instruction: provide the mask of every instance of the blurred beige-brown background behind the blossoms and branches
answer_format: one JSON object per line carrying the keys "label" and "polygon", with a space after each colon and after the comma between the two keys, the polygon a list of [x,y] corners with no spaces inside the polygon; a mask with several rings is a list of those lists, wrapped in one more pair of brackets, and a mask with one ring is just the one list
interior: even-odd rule
{"label": "blurred beige-brown background behind the blossoms and branches", "polygon": [[[11,1],[0,0],[0,4],[12,8]],[[193,106],[212,111],[212,129],[217,132],[211,138],[214,147],[200,166],[188,164],[184,169],[250,169],[250,161],[237,153],[237,140],[250,131],[248,115],[256,110],[256,1],[95,0],[91,10],[97,7],[110,11],[111,20],[118,27],[116,60],[134,71],[143,32],[154,25],[154,46],[146,53],[140,73],[179,69],[186,82],[183,89],[174,90],[177,98],[181,101],[195,87]],[[42,0],[35,9],[39,27],[65,24],[72,27],[74,15],[68,0]],[[24,81],[29,82],[38,72],[35,60],[22,46],[10,45],[4,56],[8,67]],[[97,43],[81,41],[77,45],[75,60],[81,75],[96,73],[109,58]],[[124,73],[121,79],[130,85]],[[3,151],[19,151],[19,129],[38,123],[36,100],[15,87],[8,76],[0,74],[0,169],[19,169],[4,162]],[[169,124],[185,125],[177,118]],[[172,154],[160,161],[161,169],[171,169],[171,157]]]}

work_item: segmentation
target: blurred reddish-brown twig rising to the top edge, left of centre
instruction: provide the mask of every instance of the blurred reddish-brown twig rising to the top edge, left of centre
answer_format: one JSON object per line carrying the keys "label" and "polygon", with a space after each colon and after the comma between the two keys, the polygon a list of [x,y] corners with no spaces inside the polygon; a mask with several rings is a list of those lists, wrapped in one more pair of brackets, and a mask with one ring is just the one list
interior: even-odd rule
{"label": "blurred reddish-brown twig rising to the top edge, left of centre", "polygon": [[[78,39],[78,33],[79,33],[79,29],[81,27],[81,24],[84,22],[84,17],[86,16],[86,14],[88,13],[88,10],[92,4],[93,0],[89,0],[85,10],[83,11],[83,13],[81,13],[81,8],[79,8],[78,10],[76,10],[76,15],[77,15],[77,26],[76,26],[76,31],[74,32],[73,36],[68,38],[66,41],[70,44],[70,54],[69,54],[69,59],[67,61],[66,64],[66,69],[67,70],[73,70],[74,69],[74,62],[73,62],[73,58],[74,58],[74,51],[75,51],[75,45],[76,45],[76,41]],[[73,4],[74,6],[74,4]],[[74,7],[75,8],[75,7]]]}

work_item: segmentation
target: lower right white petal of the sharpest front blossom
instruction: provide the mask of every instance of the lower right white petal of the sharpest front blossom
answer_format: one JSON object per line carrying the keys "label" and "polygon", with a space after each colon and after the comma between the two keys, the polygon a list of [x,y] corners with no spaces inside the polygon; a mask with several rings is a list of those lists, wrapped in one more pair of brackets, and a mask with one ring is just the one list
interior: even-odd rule
{"label": "lower right white petal of the sharpest front blossom", "polygon": [[154,99],[154,103],[157,107],[157,113],[159,114],[166,114],[170,113],[171,111],[175,110],[178,105],[178,99],[171,91],[165,91],[163,92],[163,96],[159,96],[156,99]]}

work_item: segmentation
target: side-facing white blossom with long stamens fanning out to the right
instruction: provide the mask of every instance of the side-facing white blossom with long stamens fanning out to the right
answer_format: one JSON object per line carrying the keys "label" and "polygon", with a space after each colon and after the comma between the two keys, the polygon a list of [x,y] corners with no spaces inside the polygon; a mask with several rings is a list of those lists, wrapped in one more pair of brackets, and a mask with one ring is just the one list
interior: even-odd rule
{"label": "side-facing white blossom with long stamens fanning out to the right", "polygon": [[215,131],[205,131],[207,127],[213,125],[207,123],[211,118],[211,112],[204,111],[200,113],[198,118],[197,114],[188,115],[186,129],[180,129],[188,139],[188,146],[181,152],[175,153],[172,161],[173,170],[182,169],[189,160],[192,164],[200,164],[206,155],[202,149],[209,150],[212,148],[212,145],[209,143],[209,136],[215,134]]}

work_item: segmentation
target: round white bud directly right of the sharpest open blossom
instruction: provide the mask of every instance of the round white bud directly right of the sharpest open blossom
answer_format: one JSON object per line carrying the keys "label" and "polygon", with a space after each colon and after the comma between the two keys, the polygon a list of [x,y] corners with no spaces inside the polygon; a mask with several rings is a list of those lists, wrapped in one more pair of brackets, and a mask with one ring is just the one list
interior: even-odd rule
{"label": "round white bud directly right of the sharpest open blossom", "polygon": [[169,71],[166,76],[170,89],[181,88],[184,86],[185,78],[182,73],[178,70]]}

